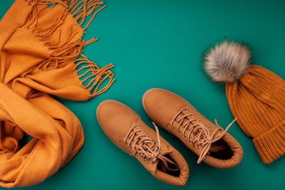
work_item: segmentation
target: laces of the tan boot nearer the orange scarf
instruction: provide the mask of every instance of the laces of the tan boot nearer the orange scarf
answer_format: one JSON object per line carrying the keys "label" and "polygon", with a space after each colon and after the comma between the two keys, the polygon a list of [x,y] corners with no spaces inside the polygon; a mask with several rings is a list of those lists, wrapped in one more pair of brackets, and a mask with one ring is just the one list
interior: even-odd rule
{"label": "laces of the tan boot nearer the orange scarf", "polygon": [[[157,141],[150,139],[150,136],[145,133],[145,130],[142,130],[140,125],[134,125],[130,128],[130,131],[125,137],[125,144],[128,144],[128,146],[133,149],[133,156],[140,154],[140,157],[148,164],[150,164],[150,162],[155,164],[155,162],[160,159],[163,164],[165,164],[166,169],[170,171],[179,170],[175,162],[161,154],[160,132],[155,123],[152,122],[152,124],[155,126]],[[175,166],[175,169],[170,168],[168,164]]]}

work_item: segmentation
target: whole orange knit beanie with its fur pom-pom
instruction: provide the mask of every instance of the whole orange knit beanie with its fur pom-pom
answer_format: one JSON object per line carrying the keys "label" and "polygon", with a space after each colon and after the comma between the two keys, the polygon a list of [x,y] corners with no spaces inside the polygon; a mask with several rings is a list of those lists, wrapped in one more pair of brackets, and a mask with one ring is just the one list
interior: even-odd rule
{"label": "whole orange knit beanie with its fur pom-pom", "polygon": [[251,65],[250,57],[243,44],[224,41],[206,54],[205,70],[215,82],[226,83],[232,114],[262,162],[270,164],[285,152],[285,81]]}

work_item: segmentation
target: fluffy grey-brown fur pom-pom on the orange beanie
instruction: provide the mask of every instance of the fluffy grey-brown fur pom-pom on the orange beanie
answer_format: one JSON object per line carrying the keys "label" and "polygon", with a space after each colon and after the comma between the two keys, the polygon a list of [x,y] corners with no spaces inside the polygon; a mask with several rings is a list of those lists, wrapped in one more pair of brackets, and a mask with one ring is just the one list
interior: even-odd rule
{"label": "fluffy grey-brown fur pom-pom on the orange beanie", "polygon": [[212,80],[233,83],[247,73],[250,58],[247,46],[223,41],[206,53],[204,67]]}

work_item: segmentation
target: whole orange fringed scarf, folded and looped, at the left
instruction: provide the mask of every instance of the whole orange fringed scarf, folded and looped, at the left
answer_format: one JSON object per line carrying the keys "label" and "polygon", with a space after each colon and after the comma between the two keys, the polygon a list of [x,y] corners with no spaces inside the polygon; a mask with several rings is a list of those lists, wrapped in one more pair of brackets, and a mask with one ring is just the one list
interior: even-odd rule
{"label": "whole orange fringed scarf, folded and looped, at the left", "polygon": [[[16,0],[0,21],[0,186],[30,186],[81,149],[78,118],[50,95],[89,100],[113,73],[83,56],[100,0]],[[21,146],[25,136],[33,137]]]}

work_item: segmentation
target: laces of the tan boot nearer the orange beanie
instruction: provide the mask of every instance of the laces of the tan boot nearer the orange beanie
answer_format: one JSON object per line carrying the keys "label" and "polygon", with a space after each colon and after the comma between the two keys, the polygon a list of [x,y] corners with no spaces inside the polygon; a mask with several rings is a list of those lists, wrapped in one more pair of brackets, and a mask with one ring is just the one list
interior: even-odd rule
{"label": "laces of the tan boot nearer the orange beanie", "polygon": [[[237,117],[229,123],[225,130],[223,130],[222,127],[219,126],[217,120],[214,119],[215,124],[219,128],[213,132],[209,127],[204,125],[201,120],[199,120],[199,118],[195,117],[195,114],[184,114],[183,112],[185,111],[189,112],[190,110],[182,108],[182,110],[180,110],[170,122],[170,125],[172,126],[172,129],[175,129],[174,122],[176,121],[178,123],[178,133],[182,132],[183,137],[187,138],[188,142],[193,144],[193,147],[197,146],[198,149],[202,149],[199,155],[199,159],[197,160],[197,163],[199,164],[206,157],[211,145],[214,142],[217,142],[219,139],[222,139],[222,137],[224,137],[224,135],[229,130],[229,127],[231,127],[237,120]],[[183,116],[178,118],[180,114],[182,114]],[[184,130],[181,130],[181,127],[184,128]],[[215,135],[219,131],[223,131],[222,134],[219,134],[217,137],[215,137]]]}

